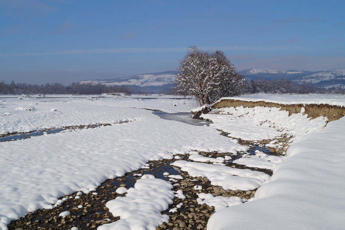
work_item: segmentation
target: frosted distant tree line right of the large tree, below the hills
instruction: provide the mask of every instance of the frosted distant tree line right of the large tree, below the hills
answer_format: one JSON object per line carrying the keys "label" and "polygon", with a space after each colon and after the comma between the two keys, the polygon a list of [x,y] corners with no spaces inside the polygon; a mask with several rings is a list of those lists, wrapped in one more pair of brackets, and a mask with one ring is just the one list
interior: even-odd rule
{"label": "frosted distant tree line right of the large tree, below the hills", "polygon": [[345,89],[340,87],[320,88],[313,83],[303,82],[295,85],[291,80],[279,78],[278,80],[266,80],[263,78],[247,82],[247,89],[243,93],[272,93],[272,94],[345,94]]}

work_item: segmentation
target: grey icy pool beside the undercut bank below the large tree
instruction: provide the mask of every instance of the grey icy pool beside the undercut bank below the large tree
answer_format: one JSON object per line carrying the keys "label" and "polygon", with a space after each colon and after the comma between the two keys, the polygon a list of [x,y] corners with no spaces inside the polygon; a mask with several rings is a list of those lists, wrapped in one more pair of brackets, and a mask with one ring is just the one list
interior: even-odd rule
{"label": "grey icy pool beside the undercut bank below the large tree", "polygon": [[179,121],[190,125],[209,125],[211,122],[194,119],[189,112],[180,112],[180,113],[166,113],[162,111],[154,111],[153,114],[159,116],[162,119],[172,120],[172,121]]}

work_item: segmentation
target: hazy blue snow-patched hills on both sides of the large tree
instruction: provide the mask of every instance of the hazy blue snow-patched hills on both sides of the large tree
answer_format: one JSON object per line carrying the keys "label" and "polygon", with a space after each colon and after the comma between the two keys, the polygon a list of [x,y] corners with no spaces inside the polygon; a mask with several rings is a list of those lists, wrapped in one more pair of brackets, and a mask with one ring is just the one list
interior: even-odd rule
{"label": "hazy blue snow-patched hills on both sides of the large tree", "polygon": [[[164,93],[171,89],[179,71],[165,71],[158,73],[139,74],[124,78],[85,80],[80,83],[101,82],[108,86],[124,85],[130,88],[132,93],[152,92]],[[327,71],[282,70],[282,69],[245,69],[240,71],[249,80],[264,78],[277,80],[287,78],[295,84],[303,82],[314,83],[317,87],[329,88],[338,86],[345,88],[345,69],[333,69]]]}

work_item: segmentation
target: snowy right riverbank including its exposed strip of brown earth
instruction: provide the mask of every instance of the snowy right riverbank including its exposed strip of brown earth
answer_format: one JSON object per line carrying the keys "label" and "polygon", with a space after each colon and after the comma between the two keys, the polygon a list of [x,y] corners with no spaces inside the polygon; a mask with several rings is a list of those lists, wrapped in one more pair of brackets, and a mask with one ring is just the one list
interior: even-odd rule
{"label": "snowy right riverbank including its exposed strip of brown earth", "polygon": [[[223,98],[211,108],[195,109],[195,115],[216,122],[212,126],[223,132],[228,130],[230,137],[263,140],[267,133],[275,135],[270,129],[274,128],[283,131],[283,140],[290,138],[285,146],[279,138],[266,144],[286,151],[288,157],[274,168],[270,182],[258,188],[251,202],[213,214],[208,230],[343,229],[345,199],[333,194],[345,189],[344,105],[344,99],[251,95]],[[234,123],[241,119],[241,127],[251,124],[269,128],[263,127],[264,135],[258,132],[248,136],[236,129]],[[257,123],[253,124],[255,120]],[[247,163],[253,164],[249,160]],[[269,218],[264,214],[267,210]]]}

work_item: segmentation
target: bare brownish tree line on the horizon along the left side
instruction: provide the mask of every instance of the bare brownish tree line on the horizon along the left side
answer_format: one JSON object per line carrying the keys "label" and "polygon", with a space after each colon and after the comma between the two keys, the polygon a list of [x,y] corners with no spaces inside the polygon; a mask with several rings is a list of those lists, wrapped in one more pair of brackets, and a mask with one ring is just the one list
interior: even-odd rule
{"label": "bare brownish tree line on the horizon along the left side", "polygon": [[126,86],[106,86],[102,83],[72,83],[64,86],[60,83],[45,85],[31,85],[26,83],[6,84],[0,82],[0,94],[20,95],[20,94],[102,94],[102,93],[124,93],[130,95],[130,89]]}

